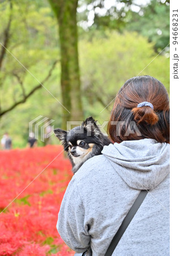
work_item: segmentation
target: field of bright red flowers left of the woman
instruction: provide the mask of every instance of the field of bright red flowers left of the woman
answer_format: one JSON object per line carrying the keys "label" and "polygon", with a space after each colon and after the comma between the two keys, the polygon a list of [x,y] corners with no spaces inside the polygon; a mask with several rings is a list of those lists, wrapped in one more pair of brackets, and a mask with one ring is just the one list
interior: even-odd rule
{"label": "field of bright red flowers left of the woman", "polygon": [[0,255],[74,255],[56,229],[72,177],[62,151],[50,145],[0,151]]}

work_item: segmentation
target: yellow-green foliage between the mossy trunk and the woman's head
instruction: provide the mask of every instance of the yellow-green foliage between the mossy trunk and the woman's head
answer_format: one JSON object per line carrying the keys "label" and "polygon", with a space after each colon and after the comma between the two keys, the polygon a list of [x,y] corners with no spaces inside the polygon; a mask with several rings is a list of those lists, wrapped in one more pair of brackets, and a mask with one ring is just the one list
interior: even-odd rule
{"label": "yellow-green foliage between the mossy trunk and the woman's head", "polygon": [[109,31],[105,38],[97,35],[92,42],[81,40],[85,115],[93,114],[100,121],[108,120],[115,95],[130,77],[151,75],[169,91],[169,58],[157,56],[153,47],[153,43],[148,43],[147,38],[136,32],[119,34]]}

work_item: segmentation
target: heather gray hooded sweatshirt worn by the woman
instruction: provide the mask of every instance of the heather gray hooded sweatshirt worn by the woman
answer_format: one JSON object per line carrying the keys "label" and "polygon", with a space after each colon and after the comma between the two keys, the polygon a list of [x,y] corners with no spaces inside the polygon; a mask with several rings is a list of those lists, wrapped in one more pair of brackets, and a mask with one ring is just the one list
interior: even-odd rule
{"label": "heather gray hooded sweatshirt worn by the woman", "polygon": [[113,256],[169,255],[169,144],[154,139],[105,146],[72,177],[57,229],[66,244],[103,256],[141,189],[149,193]]}

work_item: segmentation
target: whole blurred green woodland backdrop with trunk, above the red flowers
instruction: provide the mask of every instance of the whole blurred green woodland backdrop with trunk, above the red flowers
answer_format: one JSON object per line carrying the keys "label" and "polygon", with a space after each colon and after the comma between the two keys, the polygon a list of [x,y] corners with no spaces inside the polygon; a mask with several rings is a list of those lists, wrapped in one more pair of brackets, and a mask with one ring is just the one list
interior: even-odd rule
{"label": "whole blurred green woodland backdrop with trunk, above the red flowers", "polygon": [[27,146],[40,115],[64,129],[108,121],[130,77],[151,75],[169,92],[169,1],[0,0],[0,10],[0,138],[12,148]]}

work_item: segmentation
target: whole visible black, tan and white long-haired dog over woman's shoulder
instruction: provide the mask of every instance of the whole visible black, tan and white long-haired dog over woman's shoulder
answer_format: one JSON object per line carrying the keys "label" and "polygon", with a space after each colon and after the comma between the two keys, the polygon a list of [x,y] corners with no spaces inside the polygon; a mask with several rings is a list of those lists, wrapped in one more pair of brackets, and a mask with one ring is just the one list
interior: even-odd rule
{"label": "whole visible black, tan and white long-haired dog over woman's shoulder", "polygon": [[67,151],[74,174],[85,161],[92,156],[100,155],[102,148],[112,143],[102,134],[92,117],[88,117],[81,126],[74,127],[70,131],[55,129],[54,133]]}

